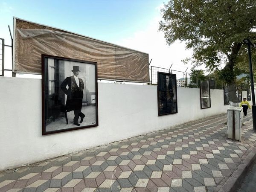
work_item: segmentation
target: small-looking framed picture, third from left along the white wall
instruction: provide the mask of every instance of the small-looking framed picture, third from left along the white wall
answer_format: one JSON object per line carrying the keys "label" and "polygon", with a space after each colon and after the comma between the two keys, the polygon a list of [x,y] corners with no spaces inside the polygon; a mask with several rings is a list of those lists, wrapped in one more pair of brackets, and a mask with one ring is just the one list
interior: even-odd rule
{"label": "small-looking framed picture, third from left along the white wall", "polygon": [[201,109],[211,107],[211,94],[209,81],[200,81],[200,103]]}

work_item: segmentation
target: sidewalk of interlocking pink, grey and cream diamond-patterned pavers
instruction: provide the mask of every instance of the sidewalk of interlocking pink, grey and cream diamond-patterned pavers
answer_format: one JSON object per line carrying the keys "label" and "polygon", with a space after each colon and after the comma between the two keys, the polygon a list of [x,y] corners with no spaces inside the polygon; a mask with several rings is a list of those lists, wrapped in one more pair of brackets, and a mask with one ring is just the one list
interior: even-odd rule
{"label": "sidewalk of interlocking pink, grey and cream diamond-patterned pavers", "polygon": [[0,172],[0,191],[211,192],[256,141],[251,113],[242,142],[226,139],[226,114]]}

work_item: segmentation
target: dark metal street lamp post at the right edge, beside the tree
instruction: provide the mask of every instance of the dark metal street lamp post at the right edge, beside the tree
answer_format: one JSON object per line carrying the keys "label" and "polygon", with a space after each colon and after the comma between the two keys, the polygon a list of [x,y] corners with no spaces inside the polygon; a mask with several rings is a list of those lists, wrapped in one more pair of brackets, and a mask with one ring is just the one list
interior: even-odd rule
{"label": "dark metal street lamp post at the right edge, beside the tree", "polygon": [[255,105],[255,94],[254,94],[254,82],[253,82],[253,64],[252,64],[252,55],[251,55],[251,46],[254,47],[252,41],[249,38],[244,39],[244,43],[248,45],[248,55],[249,55],[249,69],[250,69],[250,83],[252,90],[252,113],[253,113],[253,131],[256,131],[256,105]]}

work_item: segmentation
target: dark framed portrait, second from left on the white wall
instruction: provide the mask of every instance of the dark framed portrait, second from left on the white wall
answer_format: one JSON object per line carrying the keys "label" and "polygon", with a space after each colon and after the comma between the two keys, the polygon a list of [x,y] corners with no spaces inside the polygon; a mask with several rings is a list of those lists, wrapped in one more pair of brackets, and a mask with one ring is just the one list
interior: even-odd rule
{"label": "dark framed portrait, second from left on the white wall", "polygon": [[176,74],[157,72],[158,116],[177,113]]}

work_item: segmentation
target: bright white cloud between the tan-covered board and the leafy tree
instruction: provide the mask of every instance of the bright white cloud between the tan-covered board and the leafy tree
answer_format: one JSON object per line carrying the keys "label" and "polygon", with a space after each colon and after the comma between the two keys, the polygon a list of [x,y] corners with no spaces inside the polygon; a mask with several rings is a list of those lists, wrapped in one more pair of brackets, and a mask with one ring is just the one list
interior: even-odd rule
{"label": "bright white cloud between the tan-covered board and the leafy tree", "polygon": [[185,71],[187,67],[190,69],[191,66],[184,65],[181,60],[191,57],[192,50],[187,50],[180,41],[175,41],[171,46],[167,45],[164,33],[158,32],[160,19],[160,16],[154,18],[147,29],[118,40],[116,44],[148,53],[149,60],[152,59],[151,66],[169,69],[173,64],[173,70]]}

